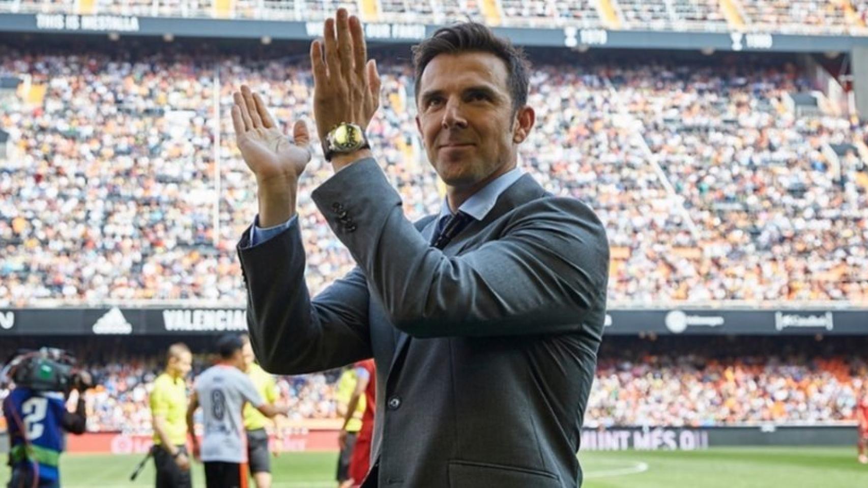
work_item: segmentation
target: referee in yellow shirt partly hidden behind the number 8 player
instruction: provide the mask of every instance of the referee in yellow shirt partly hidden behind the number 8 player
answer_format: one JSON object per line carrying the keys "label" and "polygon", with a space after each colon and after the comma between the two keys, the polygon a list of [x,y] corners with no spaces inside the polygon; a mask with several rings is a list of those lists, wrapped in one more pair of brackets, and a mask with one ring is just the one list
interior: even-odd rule
{"label": "referee in yellow shirt partly hidden behind the number 8 player", "polygon": [[[247,368],[245,373],[253,381],[253,386],[256,387],[262,400],[273,405],[280,398],[277,383],[274,382],[271,374],[266,373],[259,364],[256,364],[250,338],[244,335],[243,339],[244,348],[241,349],[241,352],[244,355],[244,364]],[[274,419],[274,433],[279,437],[277,420],[278,418]],[[257,488],[271,488],[271,457],[268,451],[268,433],[266,432],[268,422],[268,418],[253,405],[247,403],[244,406],[244,428],[247,430],[247,463],[250,466],[250,472],[253,473],[253,481],[256,482]]]}

